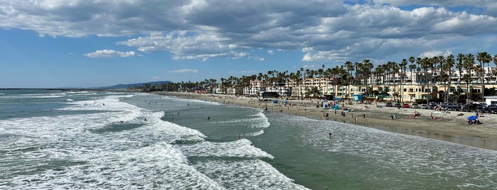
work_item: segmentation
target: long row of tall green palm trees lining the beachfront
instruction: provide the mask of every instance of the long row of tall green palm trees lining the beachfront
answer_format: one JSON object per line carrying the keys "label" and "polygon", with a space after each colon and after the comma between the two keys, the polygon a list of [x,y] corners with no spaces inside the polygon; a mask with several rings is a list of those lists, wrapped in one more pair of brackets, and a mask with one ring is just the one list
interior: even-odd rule
{"label": "long row of tall green palm trees lining the beachfront", "polygon": [[[479,64],[476,64],[478,61]],[[185,91],[198,91],[205,89],[220,89],[226,92],[227,89],[253,89],[252,82],[260,81],[262,83],[262,88],[275,86],[292,86],[296,91],[292,92],[292,96],[304,96],[309,94],[327,94],[326,91],[321,91],[321,81],[326,81],[325,84],[329,84],[331,81],[332,85],[338,86],[348,86],[357,85],[359,88],[368,85],[373,86],[380,84],[397,84],[397,82],[402,84],[410,83],[412,80],[412,74],[417,74],[417,84],[421,85],[433,85],[433,84],[444,84],[444,88],[447,91],[447,86],[451,86],[451,76],[455,69],[462,73],[463,70],[466,74],[461,76],[458,75],[458,82],[466,83],[466,91],[469,91],[469,83],[473,83],[473,74],[476,74],[477,82],[481,84],[481,91],[483,92],[485,77],[484,76],[496,76],[497,69],[493,71],[489,68],[490,63],[493,62],[497,65],[497,54],[490,55],[488,52],[478,52],[476,55],[471,53],[463,54],[459,53],[456,56],[435,56],[435,57],[409,57],[408,59],[402,59],[400,63],[397,62],[387,62],[385,64],[373,65],[370,60],[363,60],[363,62],[351,62],[346,61],[343,65],[331,67],[325,69],[325,65],[321,65],[319,69],[304,69],[300,68],[295,72],[284,71],[280,72],[277,70],[267,71],[266,74],[252,74],[242,77],[230,76],[228,78],[220,78],[220,83],[217,79],[205,79],[201,82],[181,82],[181,83],[171,83],[171,84],[161,84],[159,86],[152,86],[152,90],[168,90],[177,91],[178,89]],[[487,64],[488,69],[483,69]],[[374,70],[373,70],[374,68]],[[407,70],[410,71],[410,77],[406,76]],[[434,76],[432,73],[439,73]],[[314,79],[319,81],[318,86],[313,82]],[[399,79],[400,78],[400,79]],[[405,82],[405,79],[409,79]],[[370,81],[368,81],[370,79]],[[490,81],[486,81],[487,84]],[[394,85],[395,86],[395,85]],[[402,88],[402,87],[401,87]],[[300,90],[300,91],[299,91]],[[306,91],[306,94],[304,94]],[[395,89],[394,89],[395,91]],[[366,95],[369,91],[366,91]],[[235,91],[236,94],[245,94],[242,90]],[[255,94],[255,91],[249,91],[249,94]],[[402,91],[400,91],[402,93]],[[449,94],[446,94],[446,99]],[[471,94],[468,95],[471,97]]]}

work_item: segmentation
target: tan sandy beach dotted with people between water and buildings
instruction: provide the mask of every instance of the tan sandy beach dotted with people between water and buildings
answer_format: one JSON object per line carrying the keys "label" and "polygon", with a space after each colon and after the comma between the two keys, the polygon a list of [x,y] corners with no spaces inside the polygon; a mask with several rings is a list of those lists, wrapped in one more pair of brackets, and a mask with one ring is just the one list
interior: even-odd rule
{"label": "tan sandy beach dotted with people between water and buildings", "polygon": [[[362,125],[369,128],[376,128],[393,133],[402,133],[406,135],[416,135],[423,138],[432,138],[444,140],[451,143],[468,145],[471,147],[480,147],[488,150],[497,150],[497,115],[484,114],[479,118],[483,124],[469,125],[466,121],[468,116],[474,116],[475,113],[450,111],[447,113],[434,111],[429,109],[414,109],[414,108],[383,108],[376,107],[372,104],[345,104],[339,103],[339,109],[336,111],[330,108],[316,108],[317,99],[313,100],[288,100],[287,105],[273,104],[272,101],[260,102],[257,97],[245,97],[226,94],[196,94],[186,92],[170,92],[170,91],[153,91],[153,94],[161,94],[167,96],[178,96],[186,99],[198,99],[203,101],[214,101],[221,104],[233,104],[237,106],[245,106],[251,108],[260,108],[264,110],[279,111],[294,116],[304,116],[316,120],[323,120],[323,114],[328,113],[328,120],[343,123],[351,123],[354,125]],[[278,99],[279,103],[284,102],[283,99]],[[380,103],[378,103],[381,105]],[[292,105],[292,106],[290,106]],[[368,106],[369,108],[366,108]],[[345,109],[353,111],[346,111]],[[345,116],[341,116],[341,112],[345,112]],[[413,118],[414,112],[421,113],[421,116]],[[397,113],[397,118],[392,119],[392,116]],[[458,114],[464,114],[458,116]],[[429,119],[430,114],[434,118]],[[355,118],[354,118],[355,116]],[[357,120],[355,122],[355,119]]]}

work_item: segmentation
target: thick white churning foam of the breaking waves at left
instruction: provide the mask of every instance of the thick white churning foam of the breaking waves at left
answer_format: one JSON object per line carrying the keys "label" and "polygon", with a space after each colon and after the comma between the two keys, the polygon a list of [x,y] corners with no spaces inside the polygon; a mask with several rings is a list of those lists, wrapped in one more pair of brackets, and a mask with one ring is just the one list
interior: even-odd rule
{"label": "thick white churning foam of the breaking waves at left", "polygon": [[[259,160],[273,157],[250,140],[210,143],[198,130],[162,121],[164,111],[121,98],[73,101],[58,109],[97,113],[0,120],[0,131],[9,135],[0,143],[8,152],[0,161],[9,163],[2,167],[0,189],[303,189]],[[264,131],[253,135],[259,133]],[[192,164],[188,157],[207,159]],[[242,170],[222,178],[211,173],[233,167]]]}

